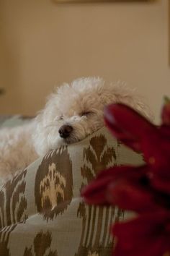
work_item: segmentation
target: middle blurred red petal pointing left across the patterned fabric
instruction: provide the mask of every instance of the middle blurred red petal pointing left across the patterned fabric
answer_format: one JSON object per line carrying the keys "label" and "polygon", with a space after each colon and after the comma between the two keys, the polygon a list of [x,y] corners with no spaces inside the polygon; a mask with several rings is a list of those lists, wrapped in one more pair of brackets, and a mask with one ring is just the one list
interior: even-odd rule
{"label": "middle blurred red petal pointing left across the patterned fabric", "polygon": [[170,197],[153,188],[150,175],[148,166],[115,166],[102,171],[81,195],[89,204],[118,205],[137,213],[169,207]]}

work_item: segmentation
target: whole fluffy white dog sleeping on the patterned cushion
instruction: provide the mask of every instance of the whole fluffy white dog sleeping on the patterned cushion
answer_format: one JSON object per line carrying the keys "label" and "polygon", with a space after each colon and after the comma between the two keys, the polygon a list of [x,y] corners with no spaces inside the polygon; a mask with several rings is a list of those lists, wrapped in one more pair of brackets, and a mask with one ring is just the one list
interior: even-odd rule
{"label": "whole fluffy white dog sleeping on the patterned cushion", "polygon": [[64,84],[50,95],[30,124],[0,131],[0,177],[27,167],[49,150],[83,140],[104,126],[103,109],[121,102],[146,114],[147,108],[125,85],[87,77]]}

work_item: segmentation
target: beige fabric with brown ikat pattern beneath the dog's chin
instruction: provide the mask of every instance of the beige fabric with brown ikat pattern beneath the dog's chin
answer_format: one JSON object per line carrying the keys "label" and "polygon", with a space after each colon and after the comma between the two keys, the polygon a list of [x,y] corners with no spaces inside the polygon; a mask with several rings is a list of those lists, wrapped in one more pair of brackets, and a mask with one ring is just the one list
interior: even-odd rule
{"label": "beige fabric with brown ikat pattern beneath the dog's chin", "polygon": [[125,213],[85,205],[81,188],[103,168],[142,163],[102,128],[39,158],[0,191],[0,255],[106,256],[109,226]]}

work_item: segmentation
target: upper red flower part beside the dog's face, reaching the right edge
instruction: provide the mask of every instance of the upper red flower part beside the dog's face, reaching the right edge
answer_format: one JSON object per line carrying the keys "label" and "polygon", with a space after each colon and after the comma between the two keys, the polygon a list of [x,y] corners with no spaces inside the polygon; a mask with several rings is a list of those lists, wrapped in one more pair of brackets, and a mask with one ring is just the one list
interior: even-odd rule
{"label": "upper red flower part beside the dog's face, reaching the right edge", "polygon": [[132,108],[122,104],[107,106],[104,118],[107,127],[118,140],[133,150],[143,152],[148,165],[152,168],[169,168],[170,127],[156,127]]}

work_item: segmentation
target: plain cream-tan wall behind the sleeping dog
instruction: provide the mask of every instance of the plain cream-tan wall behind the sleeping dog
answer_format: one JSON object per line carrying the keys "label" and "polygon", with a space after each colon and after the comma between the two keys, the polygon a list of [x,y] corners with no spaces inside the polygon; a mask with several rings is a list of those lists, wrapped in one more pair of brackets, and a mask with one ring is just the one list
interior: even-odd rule
{"label": "plain cream-tan wall behind the sleeping dog", "polygon": [[158,119],[170,95],[168,8],[0,0],[0,113],[35,114],[54,85],[99,75],[137,88]]}

